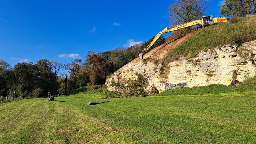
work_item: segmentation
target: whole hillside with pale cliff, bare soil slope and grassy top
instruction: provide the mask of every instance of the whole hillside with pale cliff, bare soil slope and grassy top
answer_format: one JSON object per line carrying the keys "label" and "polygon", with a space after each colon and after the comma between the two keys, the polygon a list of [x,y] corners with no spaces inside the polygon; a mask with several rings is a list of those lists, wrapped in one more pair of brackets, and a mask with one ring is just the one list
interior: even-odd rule
{"label": "whole hillside with pale cliff, bare soil slope and grassy top", "polygon": [[112,74],[106,80],[108,90],[117,90],[110,86],[112,81],[135,80],[136,73],[149,80],[148,89],[155,86],[159,92],[181,86],[239,84],[255,75],[255,18],[209,26],[156,47],[145,60],[136,58]]}

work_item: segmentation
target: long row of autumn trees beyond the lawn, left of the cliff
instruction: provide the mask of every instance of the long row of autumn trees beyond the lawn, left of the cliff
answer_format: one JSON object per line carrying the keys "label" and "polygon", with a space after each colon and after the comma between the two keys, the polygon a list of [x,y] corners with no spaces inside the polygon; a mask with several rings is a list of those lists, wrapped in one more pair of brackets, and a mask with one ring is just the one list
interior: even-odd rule
{"label": "long row of autumn trees beyond the lawn, left of the cliff", "polygon": [[[85,59],[74,58],[62,63],[48,59],[17,63],[12,68],[0,60],[0,96],[46,97],[51,94],[65,94],[81,86],[104,84],[108,75],[137,58],[153,38],[145,44],[128,48],[118,47],[107,52],[88,52]],[[159,38],[154,47],[164,43]],[[60,73],[64,71],[64,73]]]}

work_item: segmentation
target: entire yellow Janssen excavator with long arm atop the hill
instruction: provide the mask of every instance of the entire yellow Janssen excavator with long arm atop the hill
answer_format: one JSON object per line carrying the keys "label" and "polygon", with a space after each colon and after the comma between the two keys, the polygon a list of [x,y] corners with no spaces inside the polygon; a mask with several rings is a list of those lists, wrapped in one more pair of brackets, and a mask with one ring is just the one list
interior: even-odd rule
{"label": "entire yellow Janssen excavator with long arm atop the hill", "polygon": [[199,26],[199,27],[197,27],[197,30],[199,30],[203,27],[207,27],[207,26],[210,26],[210,25],[216,25],[216,24],[219,24],[219,23],[222,23],[222,22],[227,22],[227,21],[228,20],[227,20],[226,17],[213,18],[213,16],[203,16],[201,18],[201,20],[194,20],[192,22],[177,25],[177,26],[174,26],[174,27],[169,27],[169,28],[166,27],[164,30],[162,30],[158,34],[156,34],[153,41],[150,42],[148,46],[146,46],[146,48],[143,50],[142,53],[139,54],[139,56],[140,56],[140,58],[143,59],[143,55],[145,54],[145,52],[147,52],[153,46],[153,44],[156,42],[156,40],[164,33],[180,30],[182,28],[191,27],[191,26],[195,26],[195,25]]}

